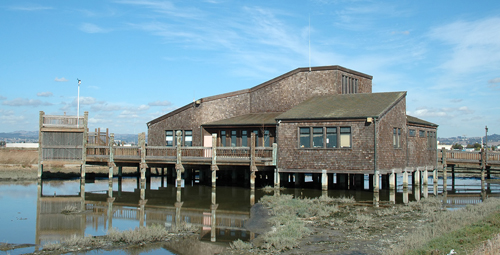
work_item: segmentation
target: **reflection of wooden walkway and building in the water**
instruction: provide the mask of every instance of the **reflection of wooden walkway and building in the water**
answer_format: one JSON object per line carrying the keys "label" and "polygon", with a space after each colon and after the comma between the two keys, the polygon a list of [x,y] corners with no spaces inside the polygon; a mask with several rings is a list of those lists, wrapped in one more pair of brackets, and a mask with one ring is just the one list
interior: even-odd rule
{"label": "reflection of wooden walkway and building in the water", "polygon": [[[79,186],[77,195],[47,195],[44,181],[38,182],[37,245],[99,231],[104,234],[113,227],[127,230],[152,225],[192,225],[200,230],[199,239],[209,242],[250,241],[255,236],[245,229],[255,199],[255,191],[248,189],[175,187],[164,185],[163,180],[151,189],[149,182],[135,178],[115,179],[107,190],[85,191],[89,184],[84,181]],[[122,190],[124,186],[133,188]],[[218,198],[224,203],[219,204]],[[65,210],[70,213],[62,213]]]}

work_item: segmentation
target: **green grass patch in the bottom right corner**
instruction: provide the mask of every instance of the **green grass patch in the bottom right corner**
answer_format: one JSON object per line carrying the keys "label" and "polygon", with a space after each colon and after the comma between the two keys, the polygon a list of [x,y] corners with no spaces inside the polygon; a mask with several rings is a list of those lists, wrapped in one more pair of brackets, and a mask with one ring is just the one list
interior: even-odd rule
{"label": "green grass patch in the bottom right corner", "polygon": [[[500,233],[500,200],[488,199],[455,211],[437,209],[434,201],[414,204],[428,223],[400,240],[390,254],[458,254],[471,252],[477,243]],[[434,209],[433,209],[434,208]]]}

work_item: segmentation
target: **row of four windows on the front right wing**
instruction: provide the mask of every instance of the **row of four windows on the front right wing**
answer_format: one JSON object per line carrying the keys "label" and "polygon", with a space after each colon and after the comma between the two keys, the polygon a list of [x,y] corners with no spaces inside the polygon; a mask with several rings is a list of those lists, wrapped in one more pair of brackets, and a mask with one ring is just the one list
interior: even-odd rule
{"label": "row of four windows on the front right wing", "polygon": [[301,127],[299,128],[299,148],[351,148],[351,128]]}

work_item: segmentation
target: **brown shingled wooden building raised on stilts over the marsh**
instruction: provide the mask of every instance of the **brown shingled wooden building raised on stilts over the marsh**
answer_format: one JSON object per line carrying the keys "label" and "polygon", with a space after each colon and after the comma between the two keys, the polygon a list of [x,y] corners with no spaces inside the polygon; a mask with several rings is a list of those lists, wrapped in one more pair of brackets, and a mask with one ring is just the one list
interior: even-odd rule
{"label": "brown shingled wooden building raised on stilts over the marsh", "polygon": [[[381,174],[437,168],[437,125],[406,115],[406,92],[372,93],[372,76],[298,68],[250,89],[201,98],[148,125],[148,146],[277,144],[279,173]],[[178,132],[180,131],[180,132]],[[272,169],[265,169],[272,168]],[[297,175],[300,176],[300,175]],[[332,178],[333,179],[333,178]]]}

